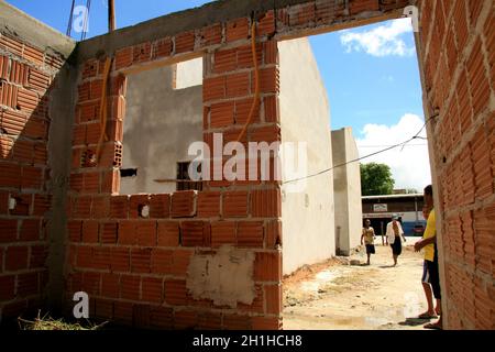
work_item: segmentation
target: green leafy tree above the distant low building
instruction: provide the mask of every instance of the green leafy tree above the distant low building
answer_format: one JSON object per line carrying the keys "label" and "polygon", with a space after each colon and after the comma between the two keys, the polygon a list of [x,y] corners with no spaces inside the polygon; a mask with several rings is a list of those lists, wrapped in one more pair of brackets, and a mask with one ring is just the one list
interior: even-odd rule
{"label": "green leafy tree above the distant low building", "polygon": [[363,196],[392,195],[395,180],[386,164],[361,164],[361,194]]}

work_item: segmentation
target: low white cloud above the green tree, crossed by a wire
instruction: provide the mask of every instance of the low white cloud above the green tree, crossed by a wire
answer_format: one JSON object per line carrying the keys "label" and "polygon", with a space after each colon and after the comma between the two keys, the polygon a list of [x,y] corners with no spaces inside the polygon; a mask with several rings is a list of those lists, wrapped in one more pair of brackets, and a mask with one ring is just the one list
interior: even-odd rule
{"label": "low white cloud above the green tree, crossed by a wire", "polygon": [[[360,157],[407,141],[424,127],[425,122],[416,114],[406,113],[397,124],[366,124],[362,131],[363,138],[356,139]],[[426,138],[425,130],[420,136]],[[383,163],[392,169],[395,188],[416,188],[422,191],[431,184],[431,172],[428,156],[428,145],[425,140],[414,140],[404,148],[397,147],[362,161],[362,163]]]}

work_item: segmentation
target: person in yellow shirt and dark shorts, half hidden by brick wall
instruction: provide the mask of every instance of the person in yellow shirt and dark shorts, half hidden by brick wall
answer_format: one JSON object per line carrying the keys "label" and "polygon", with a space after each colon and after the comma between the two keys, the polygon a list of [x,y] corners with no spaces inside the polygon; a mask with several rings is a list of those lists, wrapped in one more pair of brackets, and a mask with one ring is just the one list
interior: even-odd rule
{"label": "person in yellow shirt and dark shorts, half hidden by brick wall", "polygon": [[428,311],[420,318],[436,318],[435,311],[432,311],[432,300],[431,300],[431,289],[433,290],[433,296],[437,299],[437,314],[440,315],[440,319],[436,323],[428,323],[425,328],[428,329],[442,329],[442,317],[441,317],[441,294],[440,294],[440,276],[438,270],[438,251],[437,251],[437,228],[436,228],[436,216],[433,209],[433,188],[427,186],[425,188],[425,207],[431,209],[425,233],[422,239],[415,244],[415,250],[419,252],[421,249],[425,250],[425,263],[424,263],[424,277],[422,287],[425,289],[425,295],[428,300]]}

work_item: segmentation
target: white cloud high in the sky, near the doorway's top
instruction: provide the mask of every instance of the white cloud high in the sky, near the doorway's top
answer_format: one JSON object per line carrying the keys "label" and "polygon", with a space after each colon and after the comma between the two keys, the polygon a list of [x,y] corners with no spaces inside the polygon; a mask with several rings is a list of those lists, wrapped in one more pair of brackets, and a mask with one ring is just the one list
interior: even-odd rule
{"label": "white cloud high in the sky, near the doorway's top", "polygon": [[364,32],[344,31],[340,42],[348,53],[363,51],[377,57],[410,56],[415,54],[415,47],[406,44],[404,34],[411,32],[410,19],[398,19]]}

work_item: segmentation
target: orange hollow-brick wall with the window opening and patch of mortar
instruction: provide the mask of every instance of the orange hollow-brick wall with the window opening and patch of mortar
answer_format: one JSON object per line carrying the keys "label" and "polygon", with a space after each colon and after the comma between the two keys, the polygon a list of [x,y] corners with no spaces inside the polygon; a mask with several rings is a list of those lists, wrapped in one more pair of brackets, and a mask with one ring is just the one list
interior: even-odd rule
{"label": "orange hollow-brick wall with the window opening and patch of mortar", "polygon": [[[273,12],[258,25],[261,99],[244,142],[279,139],[276,119],[277,50],[267,38]],[[239,19],[120,48],[110,77],[103,153],[88,163],[101,132],[98,111],[102,59],[81,67],[73,136],[68,201],[67,302],[74,292],[91,297],[92,317],[146,328],[256,329],[282,327],[280,193],[273,180],[205,184],[204,191],[119,196],[125,74],[166,65],[205,51],[204,133],[237,139],[254,99],[250,20]],[[229,44],[229,48],[222,45]],[[180,56],[183,55],[183,56]],[[186,55],[186,56],[184,56]],[[143,117],[145,118],[145,117]],[[174,133],[180,133],[174,131]],[[143,218],[140,209],[150,207]],[[195,299],[186,288],[193,256],[231,245],[254,253],[255,298],[235,308]],[[229,279],[226,277],[226,279]]]}

